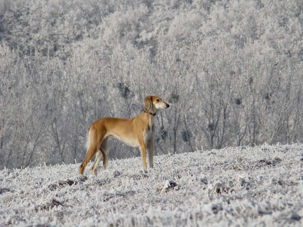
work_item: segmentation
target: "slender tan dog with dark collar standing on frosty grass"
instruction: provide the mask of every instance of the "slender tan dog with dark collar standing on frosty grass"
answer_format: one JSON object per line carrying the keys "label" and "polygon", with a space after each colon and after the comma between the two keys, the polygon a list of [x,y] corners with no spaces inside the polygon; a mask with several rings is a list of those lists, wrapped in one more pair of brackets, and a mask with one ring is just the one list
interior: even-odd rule
{"label": "slender tan dog with dark collar standing on frosty grass", "polygon": [[106,169],[108,158],[106,156],[108,137],[115,137],[129,146],[140,147],[142,164],[146,168],[146,154],[148,154],[149,168],[154,167],[154,118],[157,109],[166,109],[169,105],[156,95],[143,99],[142,113],[131,119],[104,117],[96,120],[88,128],[87,152],[85,159],[79,166],[79,174],[83,174],[86,164],[96,154],[91,171],[97,174],[97,167],[103,156],[103,167]]}

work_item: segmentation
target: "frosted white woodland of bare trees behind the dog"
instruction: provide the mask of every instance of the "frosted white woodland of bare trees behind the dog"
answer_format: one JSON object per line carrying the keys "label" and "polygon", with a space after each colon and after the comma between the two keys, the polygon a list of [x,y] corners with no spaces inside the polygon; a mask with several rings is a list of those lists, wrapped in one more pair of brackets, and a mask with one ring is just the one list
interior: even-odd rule
{"label": "frosted white woodland of bare trees behind the dog", "polygon": [[[301,0],[0,0],[0,169],[81,162],[89,125],[171,104],[155,154],[303,141]],[[139,156],[115,141],[109,158]]]}

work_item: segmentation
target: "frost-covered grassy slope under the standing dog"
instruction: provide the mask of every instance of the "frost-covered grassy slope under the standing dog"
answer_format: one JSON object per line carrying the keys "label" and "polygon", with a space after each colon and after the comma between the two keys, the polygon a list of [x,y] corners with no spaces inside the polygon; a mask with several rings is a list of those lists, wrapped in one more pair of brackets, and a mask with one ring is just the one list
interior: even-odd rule
{"label": "frost-covered grassy slope under the standing dog", "polygon": [[4,169],[0,226],[303,226],[303,144]]}

